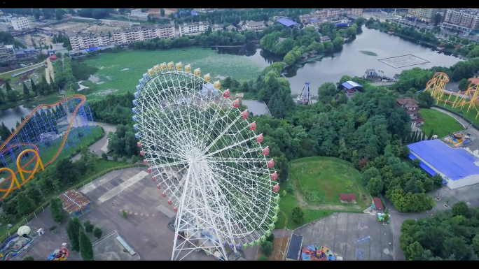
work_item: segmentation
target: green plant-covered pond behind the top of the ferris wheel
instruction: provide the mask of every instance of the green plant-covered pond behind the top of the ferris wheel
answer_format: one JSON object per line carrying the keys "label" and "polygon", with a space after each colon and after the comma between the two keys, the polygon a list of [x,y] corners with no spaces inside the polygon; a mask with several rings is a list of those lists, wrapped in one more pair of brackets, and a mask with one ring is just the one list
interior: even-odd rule
{"label": "green plant-covered pond behind the top of the ferris wheel", "polygon": [[[217,75],[231,76],[236,80],[256,79],[262,68],[244,56],[218,54],[214,50],[186,48],[176,50],[127,50],[118,53],[99,54],[85,63],[99,68],[95,75],[102,84],[88,94],[88,100],[107,94],[134,92],[138,80],[156,64],[174,61],[201,68],[202,75],[209,73],[213,81]],[[127,69],[127,70],[126,70]],[[123,71],[122,71],[123,70]]]}

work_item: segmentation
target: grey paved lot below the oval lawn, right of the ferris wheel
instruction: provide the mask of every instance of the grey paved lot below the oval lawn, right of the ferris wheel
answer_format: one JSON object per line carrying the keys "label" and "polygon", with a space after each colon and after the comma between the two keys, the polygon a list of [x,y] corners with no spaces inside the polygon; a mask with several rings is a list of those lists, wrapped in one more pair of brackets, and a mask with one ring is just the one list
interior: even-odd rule
{"label": "grey paved lot below the oval lawn, right of the ferris wheel", "polygon": [[345,261],[394,260],[391,226],[383,225],[373,215],[334,213],[293,233],[303,235],[302,249],[312,243],[320,243]]}

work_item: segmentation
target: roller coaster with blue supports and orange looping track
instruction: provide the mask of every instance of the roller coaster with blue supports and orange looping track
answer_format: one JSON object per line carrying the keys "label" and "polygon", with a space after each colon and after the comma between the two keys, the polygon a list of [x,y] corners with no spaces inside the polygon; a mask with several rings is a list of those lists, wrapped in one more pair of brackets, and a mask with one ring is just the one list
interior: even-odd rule
{"label": "roller coaster with blue supports and orange looping track", "polygon": [[[36,106],[0,145],[0,159],[4,166],[0,168],[0,174],[3,171],[10,174],[0,183],[0,187],[3,187],[0,192],[4,192],[0,201],[32,179],[39,168],[43,170],[53,163],[64,149],[71,151],[81,143],[81,139],[92,136],[92,127],[92,114],[83,95],[70,96],[51,105]],[[43,165],[41,154],[51,152],[55,154]],[[31,155],[34,156],[29,159]],[[33,163],[35,159],[36,163]],[[15,166],[18,170],[13,172]],[[32,166],[32,169],[26,169],[27,166]],[[18,173],[22,182],[18,182],[15,176]],[[24,173],[30,175],[25,177]],[[11,180],[10,186],[4,188],[8,180]]]}

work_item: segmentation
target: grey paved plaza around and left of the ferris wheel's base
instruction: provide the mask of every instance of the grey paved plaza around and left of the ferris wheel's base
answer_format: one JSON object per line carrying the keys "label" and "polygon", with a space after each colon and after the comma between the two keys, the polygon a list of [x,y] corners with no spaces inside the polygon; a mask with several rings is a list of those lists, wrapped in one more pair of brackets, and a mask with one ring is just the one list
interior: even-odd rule
{"label": "grey paved plaza around and left of the ferris wheel's base", "polygon": [[[145,168],[128,168],[108,173],[91,183],[85,184],[78,189],[85,196],[92,199],[92,209],[80,215],[83,223],[90,220],[92,224],[102,229],[103,235],[117,231],[125,241],[141,257],[141,261],[162,261],[172,257],[174,231],[167,227],[174,216],[173,206],[167,204],[167,198],[161,196],[161,191],[156,189],[155,182]],[[124,218],[122,210],[127,212]],[[169,215],[169,216],[168,216]],[[43,228],[46,234],[38,238],[32,247],[36,250],[31,256],[34,259],[45,259],[53,249],[60,247],[63,242],[69,243],[62,224],[55,224],[48,209],[39,214],[37,219],[32,219],[31,226]],[[48,231],[50,226],[56,225],[57,234]],[[91,235],[90,235],[91,236]],[[92,242],[95,238],[90,237]],[[111,243],[99,246],[99,252],[95,252],[95,259],[116,260],[122,255],[110,252],[118,252],[118,244],[115,240]],[[247,260],[256,257],[258,247],[244,250]],[[36,253],[38,252],[38,253]],[[98,255],[98,256],[97,256]],[[135,257],[136,259],[136,257]],[[80,260],[78,252],[71,252],[69,260]],[[204,252],[192,252],[184,260],[202,261],[214,260],[213,256],[207,256]]]}

